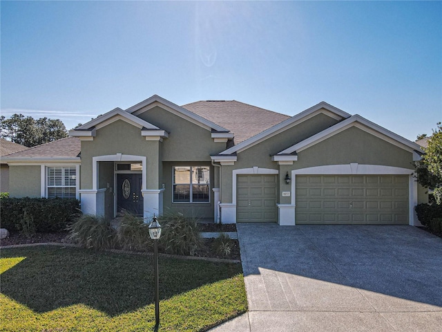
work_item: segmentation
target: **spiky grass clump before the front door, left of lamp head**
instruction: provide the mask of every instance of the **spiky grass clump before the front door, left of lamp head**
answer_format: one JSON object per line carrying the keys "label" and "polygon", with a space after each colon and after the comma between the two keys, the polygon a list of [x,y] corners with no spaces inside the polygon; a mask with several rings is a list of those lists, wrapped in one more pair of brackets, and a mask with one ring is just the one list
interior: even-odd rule
{"label": "spiky grass clump before the front door, left of lamp head", "polygon": [[122,222],[117,228],[117,238],[119,246],[124,250],[147,251],[153,246],[148,224],[130,212],[123,213]]}

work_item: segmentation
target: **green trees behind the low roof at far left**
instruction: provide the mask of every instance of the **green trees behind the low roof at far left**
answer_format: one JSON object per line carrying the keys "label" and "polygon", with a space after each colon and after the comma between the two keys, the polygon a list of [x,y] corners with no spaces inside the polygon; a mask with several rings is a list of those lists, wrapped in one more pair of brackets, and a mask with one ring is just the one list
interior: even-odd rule
{"label": "green trees behind the low roof at far left", "polygon": [[35,120],[31,116],[14,114],[11,118],[0,117],[1,137],[9,138],[12,142],[34,147],[53,140],[59,140],[68,136],[66,127],[61,120],[39,118]]}

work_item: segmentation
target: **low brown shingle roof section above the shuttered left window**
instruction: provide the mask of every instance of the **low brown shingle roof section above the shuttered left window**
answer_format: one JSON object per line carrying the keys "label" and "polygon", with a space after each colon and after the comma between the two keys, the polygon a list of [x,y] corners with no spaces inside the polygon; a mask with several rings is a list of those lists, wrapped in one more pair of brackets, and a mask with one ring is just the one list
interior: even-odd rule
{"label": "low brown shingle roof section above the shuttered left window", "polygon": [[80,154],[80,140],[77,137],[61,138],[36,147],[10,154],[8,158],[75,158]]}

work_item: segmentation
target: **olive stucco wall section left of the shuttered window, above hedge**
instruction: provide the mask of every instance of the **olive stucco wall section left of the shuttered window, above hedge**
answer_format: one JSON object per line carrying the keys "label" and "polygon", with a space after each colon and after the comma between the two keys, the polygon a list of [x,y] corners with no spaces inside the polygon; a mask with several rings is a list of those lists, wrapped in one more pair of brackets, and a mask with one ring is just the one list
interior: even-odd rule
{"label": "olive stucco wall section left of the shuttered window, above hedge", "polygon": [[40,197],[41,186],[40,166],[10,166],[9,167],[9,194],[11,197]]}

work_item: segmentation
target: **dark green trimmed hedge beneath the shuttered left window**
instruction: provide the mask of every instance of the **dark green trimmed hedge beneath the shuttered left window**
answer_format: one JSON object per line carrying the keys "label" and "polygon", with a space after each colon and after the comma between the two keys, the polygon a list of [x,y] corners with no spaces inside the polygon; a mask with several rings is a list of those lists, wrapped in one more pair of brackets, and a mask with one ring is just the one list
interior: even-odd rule
{"label": "dark green trimmed hedge beneath the shuttered left window", "polygon": [[[76,199],[2,198],[0,201],[2,228],[23,231],[23,220],[32,220],[35,232],[61,232],[79,215]],[[28,223],[28,221],[26,223]]]}

